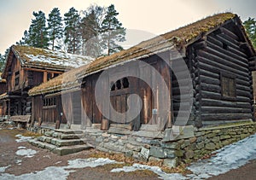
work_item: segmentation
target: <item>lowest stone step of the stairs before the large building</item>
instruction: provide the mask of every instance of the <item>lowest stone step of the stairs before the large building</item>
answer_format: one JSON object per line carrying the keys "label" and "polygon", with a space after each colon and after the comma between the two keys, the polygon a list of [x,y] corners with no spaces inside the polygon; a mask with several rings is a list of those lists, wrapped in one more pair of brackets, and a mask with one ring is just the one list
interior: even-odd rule
{"label": "lowest stone step of the stairs before the large building", "polygon": [[55,148],[52,152],[54,154],[58,154],[58,155],[66,155],[66,154],[78,153],[78,152],[84,151],[84,150],[89,150],[91,148],[92,147],[87,144],[75,145],[75,146],[63,146],[60,148]]}

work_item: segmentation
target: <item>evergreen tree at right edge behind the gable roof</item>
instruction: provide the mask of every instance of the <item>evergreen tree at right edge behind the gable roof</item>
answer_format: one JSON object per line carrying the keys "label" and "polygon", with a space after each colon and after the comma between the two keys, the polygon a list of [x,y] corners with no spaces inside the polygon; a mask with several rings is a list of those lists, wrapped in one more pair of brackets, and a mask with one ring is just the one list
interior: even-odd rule
{"label": "evergreen tree at right edge behind the gable roof", "polygon": [[256,20],[254,18],[248,18],[248,20],[243,22],[246,28],[247,35],[253,43],[253,47],[256,48]]}

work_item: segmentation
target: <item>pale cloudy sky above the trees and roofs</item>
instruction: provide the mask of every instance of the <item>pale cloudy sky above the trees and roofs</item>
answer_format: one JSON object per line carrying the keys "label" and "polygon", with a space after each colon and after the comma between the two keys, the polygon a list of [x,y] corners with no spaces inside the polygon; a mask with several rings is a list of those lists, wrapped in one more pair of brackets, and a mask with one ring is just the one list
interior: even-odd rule
{"label": "pale cloudy sky above the trees and roofs", "polygon": [[48,16],[57,7],[64,15],[71,7],[84,10],[94,3],[113,3],[119,21],[128,31],[136,31],[137,41],[221,12],[236,13],[241,20],[256,18],[254,0],[0,0],[0,53],[22,38],[31,24],[33,11],[42,10]]}

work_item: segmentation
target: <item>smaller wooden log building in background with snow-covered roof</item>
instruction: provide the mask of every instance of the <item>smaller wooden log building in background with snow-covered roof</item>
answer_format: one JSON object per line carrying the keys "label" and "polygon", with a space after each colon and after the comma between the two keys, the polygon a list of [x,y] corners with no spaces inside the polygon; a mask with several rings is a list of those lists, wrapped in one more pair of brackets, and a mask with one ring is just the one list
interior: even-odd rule
{"label": "smaller wooden log building in background with snow-covered roof", "polygon": [[2,74],[7,82],[5,93],[0,96],[3,115],[31,114],[32,98],[28,90],[90,61],[92,58],[82,55],[13,45]]}

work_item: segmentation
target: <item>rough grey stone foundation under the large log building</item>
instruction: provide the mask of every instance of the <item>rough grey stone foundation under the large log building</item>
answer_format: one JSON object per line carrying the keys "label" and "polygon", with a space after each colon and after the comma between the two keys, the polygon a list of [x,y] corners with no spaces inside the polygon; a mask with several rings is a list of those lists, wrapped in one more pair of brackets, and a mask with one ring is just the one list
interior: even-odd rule
{"label": "rough grey stone foundation under the large log building", "polygon": [[173,126],[165,131],[158,131],[154,125],[143,125],[141,131],[130,131],[126,125],[111,125],[108,131],[101,131],[100,125],[93,125],[84,130],[84,138],[90,146],[104,152],[123,153],[143,161],[162,161],[174,167],[180,162],[199,160],[255,131],[256,124],[252,121],[201,129],[191,125]]}

